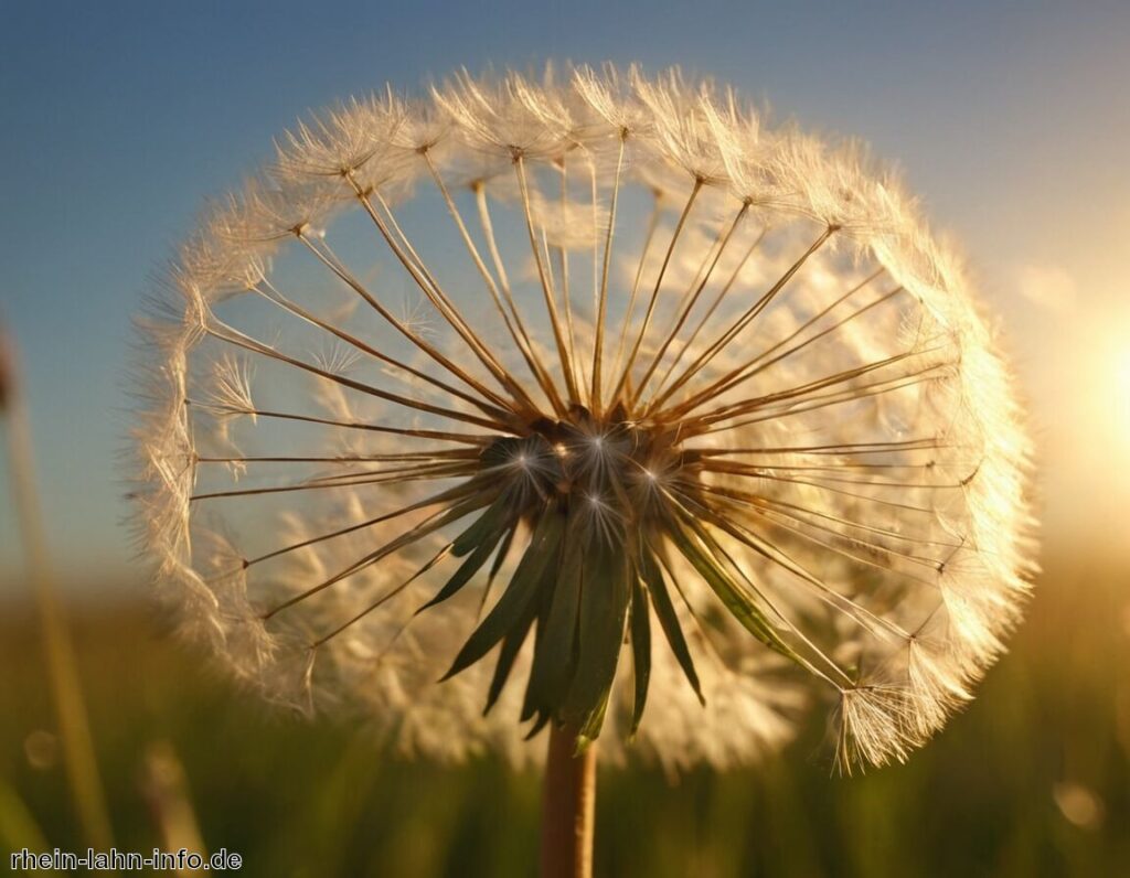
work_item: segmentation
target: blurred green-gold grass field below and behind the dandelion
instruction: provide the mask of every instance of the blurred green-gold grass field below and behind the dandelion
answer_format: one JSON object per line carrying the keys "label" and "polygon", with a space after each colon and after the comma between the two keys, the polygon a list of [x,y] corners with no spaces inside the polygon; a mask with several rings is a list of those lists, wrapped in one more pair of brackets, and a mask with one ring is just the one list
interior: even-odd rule
{"label": "blurred green-gold grass field below and behind the dandelion", "polygon": [[[602,771],[597,873],[1125,873],[1128,583],[1125,566],[1053,560],[976,702],[906,766],[831,777],[814,720],[759,770],[678,780],[638,766]],[[6,869],[14,845],[86,845],[62,767],[34,767],[26,754],[28,734],[53,728],[34,617],[9,603],[0,618]],[[139,776],[150,745],[167,741],[184,764],[207,845],[243,854],[242,875],[534,871],[533,772],[493,759],[406,763],[340,723],[272,714],[202,670],[144,605],[76,608],[72,623],[120,849],[158,843]],[[1067,783],[1098,806],[1086,825],[1057,803],[1057,785],[1062,792]]]}

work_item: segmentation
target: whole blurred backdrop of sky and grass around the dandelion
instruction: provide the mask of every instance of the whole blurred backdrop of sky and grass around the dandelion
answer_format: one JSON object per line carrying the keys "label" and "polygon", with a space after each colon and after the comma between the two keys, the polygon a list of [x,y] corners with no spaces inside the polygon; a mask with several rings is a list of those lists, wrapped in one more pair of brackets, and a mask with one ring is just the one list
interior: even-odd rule
{"label": "whole blurred backdrop of sky and grass around the dandelion", "polygon": [[[758,8],[759,6],[764,8]],[[1130,862],[1130,7],[0,2],[0,321],[114,840],[245,875],[528,875],[538,777],[269,713],[151,610],[118,457],[130,316],[209,194],[307,108],[459,66],[680,64],[897,160],[1031,402],[1043,566],[976,702],[904,767],[600,779],[599,875],[1112,876]],[[8,434],[2,451],[7,453]],[[81,850],[0,473],[0,854]],[[189,845],[192,846],[192,845]]]}

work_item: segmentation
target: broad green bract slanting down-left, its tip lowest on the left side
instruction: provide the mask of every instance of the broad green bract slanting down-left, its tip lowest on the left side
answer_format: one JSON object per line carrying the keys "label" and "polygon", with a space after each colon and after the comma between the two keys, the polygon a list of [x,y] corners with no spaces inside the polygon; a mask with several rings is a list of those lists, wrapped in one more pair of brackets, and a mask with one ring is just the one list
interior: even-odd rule
{"label": "broad green bract slanting down-left, its tip lowest on the left side", "polygon": [[533,529],[530,545],[527,546],[514,575],[506,585],[506,591],[463,644],[463,649],[441,681],[477,662],[510,631],[521,624],[530,601],[537,596],[546,567],[557,557],[563,529],[564,515],[556,510],[550,508],[541,515]]}

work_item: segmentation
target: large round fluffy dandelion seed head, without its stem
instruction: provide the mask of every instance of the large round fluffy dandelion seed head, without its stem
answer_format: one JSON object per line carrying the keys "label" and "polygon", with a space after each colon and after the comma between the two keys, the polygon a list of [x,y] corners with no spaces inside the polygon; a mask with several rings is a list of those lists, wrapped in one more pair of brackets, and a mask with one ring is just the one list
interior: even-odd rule
{"label": "large round fluffy dandelion seed head, without its stem", "polygon": [[1018,619],[1029,450],[959,258],[861,147],[710,81],[350,101],[160,287],[158,582],[238,677],[405,751],[725,766],[824,705],[883,765]]}

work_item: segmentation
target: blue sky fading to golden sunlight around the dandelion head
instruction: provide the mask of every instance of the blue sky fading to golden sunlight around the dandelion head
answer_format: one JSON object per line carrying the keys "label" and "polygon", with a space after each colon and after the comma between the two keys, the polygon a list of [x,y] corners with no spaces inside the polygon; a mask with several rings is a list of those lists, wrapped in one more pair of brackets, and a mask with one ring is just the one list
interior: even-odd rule
{"label": "blue sky fading to golden sunlight around the dandelion head", "polygon": [[[0,319],[23,353],[67,577],[139,576],[115,458],[129,321],[203,198],[307,108],[385,80],[546,58],[681,64],[896,160],[1002,315],[1036,412],[1049,518],[1075,534],[1124,510],[1130,6],[758,6],[0,7]],[[5,580],[21,564],[7,486]]]}

